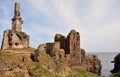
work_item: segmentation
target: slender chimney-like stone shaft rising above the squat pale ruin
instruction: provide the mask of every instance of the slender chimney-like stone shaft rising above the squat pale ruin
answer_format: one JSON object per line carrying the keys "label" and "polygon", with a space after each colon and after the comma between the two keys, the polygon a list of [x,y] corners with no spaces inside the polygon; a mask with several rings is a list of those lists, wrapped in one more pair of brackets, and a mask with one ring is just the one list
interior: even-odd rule
{"label": "slender chimney-like stone shaft rising above the squat pale ruin", "polygon": [[15,3],[14,8],[14,17],[12,18],[12,30],[13,31],[22,31],[23,20],[20,17],[20,4]]}

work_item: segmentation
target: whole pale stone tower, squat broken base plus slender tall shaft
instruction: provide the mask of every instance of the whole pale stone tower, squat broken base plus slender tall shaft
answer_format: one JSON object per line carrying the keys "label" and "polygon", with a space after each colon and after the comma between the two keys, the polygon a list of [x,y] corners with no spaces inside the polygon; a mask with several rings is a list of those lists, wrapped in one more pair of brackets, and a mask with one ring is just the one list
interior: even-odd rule
{"label": "whole pale stone tower, squat broken base plus slender tall shaft", "polygon": [[20,17],[20,4],[15,3],[14,17],[12,18],[12,30],[5,30],[1,49],[27,48],[29,47],[29,35],[22,32],[22,18]]}

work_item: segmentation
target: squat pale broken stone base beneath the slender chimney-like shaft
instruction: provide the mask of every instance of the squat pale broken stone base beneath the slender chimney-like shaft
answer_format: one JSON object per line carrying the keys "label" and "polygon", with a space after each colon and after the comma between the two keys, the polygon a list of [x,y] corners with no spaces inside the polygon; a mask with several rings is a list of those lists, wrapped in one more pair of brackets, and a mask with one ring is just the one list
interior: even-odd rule
{"label": "squat pale broken stone base beneath the slender chimney-like shaft", "polygon": [[27,48],[29,47],[29,35],[24,32],[5,30],[1,49]]}

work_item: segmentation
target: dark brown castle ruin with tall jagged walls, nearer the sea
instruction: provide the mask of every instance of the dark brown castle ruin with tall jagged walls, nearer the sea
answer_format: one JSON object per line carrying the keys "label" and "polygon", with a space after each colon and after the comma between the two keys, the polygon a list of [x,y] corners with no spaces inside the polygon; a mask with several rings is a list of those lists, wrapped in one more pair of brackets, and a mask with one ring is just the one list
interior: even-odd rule
{"label": "dark brown castle ruin with tall jagged walls, nearer the sea", "polygon": [[[69,55],[69,65],[79,65],[82,61],[82,57],[84,54],[80,49],[80,34],[76,32],[74,29],[70,31],[67,37],[62,34],[56,34],[54,37],[53,43],[41,44],[38,46],[38,51],[44,51],[46,54],[49,54],[51,57],[55,56],[54,50],[64,50],[63,53],[59,53],[59,56],[63,56],[63,58]],[[62,55],[61,55],[62,54]]]}

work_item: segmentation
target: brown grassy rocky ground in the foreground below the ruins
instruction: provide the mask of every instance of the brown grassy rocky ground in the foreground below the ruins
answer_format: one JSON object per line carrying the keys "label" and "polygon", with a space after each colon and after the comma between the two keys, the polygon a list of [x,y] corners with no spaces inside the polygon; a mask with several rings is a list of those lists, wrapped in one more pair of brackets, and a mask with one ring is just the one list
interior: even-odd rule
{"label": "brown grassy rocky ground in the foreground below the ruins", "polygon": [[99,77],[80,68],[71,68],[66,65],[53,68],[50,65],[55,65],[54,60],[44,52],[40,52],[39,61],[34,62],[28,53],[18,53],[21,50],[34,53],[34,49],[13,49],[17,53],[11,52],[10,49],[1,51],[0,77]]}

